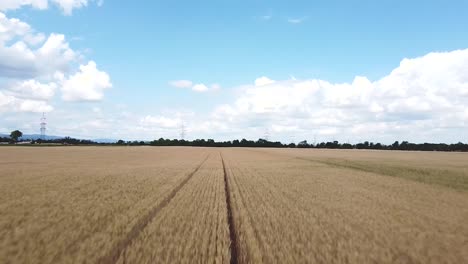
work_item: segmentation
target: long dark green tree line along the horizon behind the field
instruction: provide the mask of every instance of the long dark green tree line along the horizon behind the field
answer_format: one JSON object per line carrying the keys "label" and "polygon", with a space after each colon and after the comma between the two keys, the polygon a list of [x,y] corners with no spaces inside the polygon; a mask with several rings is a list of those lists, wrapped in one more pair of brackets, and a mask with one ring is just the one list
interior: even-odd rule
{"label": "long dark green tree line along the horizon behind the field", "polygon": [[[0,142],[10,144],[21,141],[23,133],[15,130],[10,137],[0,137]],[[118,146],[186,146],[186,147],[249,147],[249,148],[316,148],[316,149],[375,149],[375,150],[414,150],[414,151],[463,151],[468,152],[468,144],[462,142],[456,144],[445,143],[410,143],[408,141],[395,141],[391,145],[365,141],[357,144],[340,143],[338,141],[321,142],[309,144],[307,140],[299,143],[284,144],[279,141],[268,141],[266,139],[254,140],[232,140],[215,141],[213,139],[179,140],[160,138],[153,141],[124,141],[118,140],[116,143],[98,143],[92,140],[76,139],[64,137],[60,139],[37,139],[31,144],[61,144],[61,145],[118,145]]]}

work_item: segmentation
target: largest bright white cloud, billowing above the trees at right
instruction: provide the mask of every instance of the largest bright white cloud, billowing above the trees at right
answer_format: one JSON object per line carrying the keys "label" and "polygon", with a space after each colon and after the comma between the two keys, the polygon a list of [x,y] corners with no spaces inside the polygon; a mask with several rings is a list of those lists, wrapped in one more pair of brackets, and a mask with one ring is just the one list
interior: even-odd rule
{"label": "largest bright white cloud, billowing above the trees at right", "polygon": [[350,83],[261,77],[255,85],[243,86],[233,103],[217,107],[212,119],[229,129],[257,130],[259,136],[262,129],[272,128],[283,137],[291,133],[285,127],[304,137],[342,139],[467,129],[466,69],[468,49],[404,59],[377,81],[360,76]]}

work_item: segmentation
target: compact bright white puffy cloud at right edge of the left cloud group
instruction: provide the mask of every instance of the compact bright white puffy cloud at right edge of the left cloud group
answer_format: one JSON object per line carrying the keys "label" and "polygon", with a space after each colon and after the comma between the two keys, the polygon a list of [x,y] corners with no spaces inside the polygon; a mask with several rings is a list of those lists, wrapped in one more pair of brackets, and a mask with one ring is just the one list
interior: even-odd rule
{"label": "compact bright white puffy cloud at right edge of the left cloud group", "polygon": [[62,98],[65,101],[99,101],[104,91],[112,87],[110,77],[100,71],[94,61],[81,65],[80,71],[62,82]]}

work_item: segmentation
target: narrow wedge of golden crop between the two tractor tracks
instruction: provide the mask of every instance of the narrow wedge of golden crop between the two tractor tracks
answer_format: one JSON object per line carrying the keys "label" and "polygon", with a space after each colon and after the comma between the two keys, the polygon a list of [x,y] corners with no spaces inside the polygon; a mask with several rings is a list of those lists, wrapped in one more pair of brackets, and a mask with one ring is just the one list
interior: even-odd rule
{"label": "narrow wedge of golden crop between the two tractor tracks", "polygon": [[119,263],[226,263],[229,229],[219,155],[200,170],[121,255]]}

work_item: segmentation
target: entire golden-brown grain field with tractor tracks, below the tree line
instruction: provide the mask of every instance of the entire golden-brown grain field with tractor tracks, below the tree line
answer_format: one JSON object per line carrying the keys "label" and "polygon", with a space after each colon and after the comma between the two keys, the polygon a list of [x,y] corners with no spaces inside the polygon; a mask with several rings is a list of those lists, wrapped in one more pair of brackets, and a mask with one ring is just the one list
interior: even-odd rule
{"label": "entire golden-brown grain field with tractor tracks, below the tree line", "polygon": [[468,263],[468,153],[0,147],[0,263]]}

